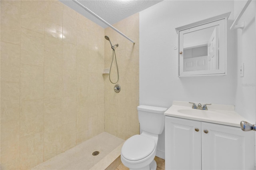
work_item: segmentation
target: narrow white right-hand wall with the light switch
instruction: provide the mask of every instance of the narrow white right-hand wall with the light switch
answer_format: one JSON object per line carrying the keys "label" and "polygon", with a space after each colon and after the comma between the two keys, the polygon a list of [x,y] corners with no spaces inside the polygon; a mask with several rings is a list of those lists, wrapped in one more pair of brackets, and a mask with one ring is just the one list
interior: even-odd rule
{"label": "narrow white right-hand wall with the light switch", "polygon": [[[234,14],[237,16],[247,1],[234,1]],[[244,29],[236,30],[237,63],[244,63],[244,77],[236,75],[236,111],[255,123],[255,1],[252,1],[238,23],[244,21]]]}

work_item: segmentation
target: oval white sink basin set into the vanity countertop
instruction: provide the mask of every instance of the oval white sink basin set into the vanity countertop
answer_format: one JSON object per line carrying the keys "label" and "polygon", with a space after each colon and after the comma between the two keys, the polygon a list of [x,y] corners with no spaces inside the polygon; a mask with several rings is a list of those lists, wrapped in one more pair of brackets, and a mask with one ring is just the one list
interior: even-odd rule
{"label": "oval white sink basin set into the vanity countertop", "polygon": [[211,114],[216,114],[211,111],[198,110],[198,109],[179,109],[178,112],[185,115],[189,115],[189,116],[204,117],[204,118],[211,118],[213,116]]}

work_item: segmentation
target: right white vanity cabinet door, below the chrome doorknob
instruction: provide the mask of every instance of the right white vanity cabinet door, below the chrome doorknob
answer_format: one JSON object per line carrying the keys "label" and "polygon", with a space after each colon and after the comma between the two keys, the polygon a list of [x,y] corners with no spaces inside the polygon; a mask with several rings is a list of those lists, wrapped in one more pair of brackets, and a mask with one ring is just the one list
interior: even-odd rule
{"label": "right white vanity cabinet door, below the chrome doorknob", "polygon": [[254,133],[202,122],[202,169],[255,169]]}

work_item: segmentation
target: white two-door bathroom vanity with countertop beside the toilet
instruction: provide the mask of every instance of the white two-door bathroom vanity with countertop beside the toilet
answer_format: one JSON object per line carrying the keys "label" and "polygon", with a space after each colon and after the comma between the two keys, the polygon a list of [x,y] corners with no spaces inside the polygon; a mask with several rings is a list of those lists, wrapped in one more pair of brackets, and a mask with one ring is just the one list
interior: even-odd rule
{"label": "white two-door bathroom vanity with countertop beside the toilet", "polygon": [[240,129],[245,119],[234,106],[207,107],[173,101],[164,113],[165,169],[255,169],[255,132]]}

